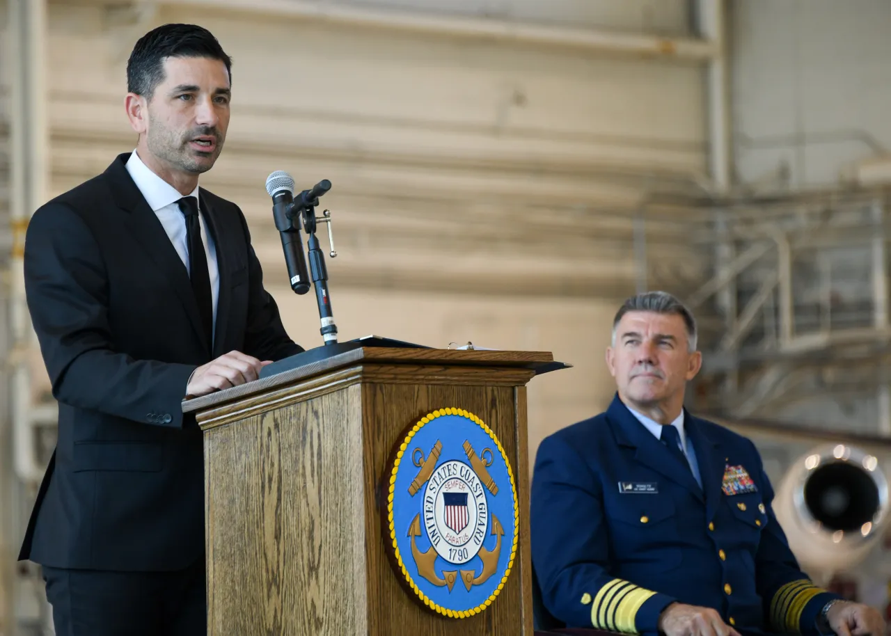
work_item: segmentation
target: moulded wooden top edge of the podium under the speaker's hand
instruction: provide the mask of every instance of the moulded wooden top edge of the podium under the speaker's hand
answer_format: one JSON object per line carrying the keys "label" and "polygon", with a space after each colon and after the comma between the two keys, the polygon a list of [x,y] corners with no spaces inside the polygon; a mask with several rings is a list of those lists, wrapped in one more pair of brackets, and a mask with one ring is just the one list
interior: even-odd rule
{"label": "moulded wooden top edge of the podium under the speaker's hand", "polygon": [[183,412],[195,412],[233,399],[262,393],[294,380],[308,379],[327,371],[356,363],[406,364],[406,365],[447,365],[447,366],[486,366],[503,368],[523,368],[532,371],[550,371],[554,363],[553,355],[547,351],[479,351],[431,348],[397,347],[358,347],[337,355],[295,366],[287,371],[261,377],[253,382],[226,388],[208,395],[201,395],[183,401]]}

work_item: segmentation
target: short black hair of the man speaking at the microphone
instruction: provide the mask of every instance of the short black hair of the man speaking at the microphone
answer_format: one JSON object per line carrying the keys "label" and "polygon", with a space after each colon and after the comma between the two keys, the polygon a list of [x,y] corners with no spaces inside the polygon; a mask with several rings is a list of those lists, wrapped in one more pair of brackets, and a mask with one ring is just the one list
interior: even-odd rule
{"label": "short black hair of the man speaking at the microphone", "polygon": [[232,58],[208,29],[195,24],[165,24],[139,38],[127,61],[127,91],[148,100],[164,81],[168,57],[206,57],[225,64],[232,83]]}

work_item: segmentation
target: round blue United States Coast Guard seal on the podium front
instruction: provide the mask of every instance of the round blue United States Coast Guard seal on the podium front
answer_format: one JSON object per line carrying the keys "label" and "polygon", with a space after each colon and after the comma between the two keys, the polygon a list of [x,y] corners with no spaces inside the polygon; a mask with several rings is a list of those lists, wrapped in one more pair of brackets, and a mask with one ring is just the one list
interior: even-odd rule
{"label": "round blue United States Coast Guard seal on the podium front", "polygon": [[519,524],[511,464],[495,433],[461,409],[429,413],[400,440],[387,476],[396,575],[444,616],[486,609],[511,574]]}

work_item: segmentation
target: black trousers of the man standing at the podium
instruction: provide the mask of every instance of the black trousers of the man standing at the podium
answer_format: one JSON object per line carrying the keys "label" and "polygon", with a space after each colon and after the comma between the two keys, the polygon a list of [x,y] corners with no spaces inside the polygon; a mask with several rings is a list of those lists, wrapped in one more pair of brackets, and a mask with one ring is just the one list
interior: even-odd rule
{"label": "black trousers of the man standing at the podium", "polygon": [[175,572],[44,567],[57,636],[204,636],[205,564]]}

